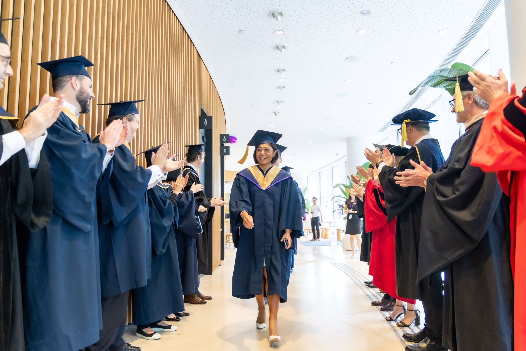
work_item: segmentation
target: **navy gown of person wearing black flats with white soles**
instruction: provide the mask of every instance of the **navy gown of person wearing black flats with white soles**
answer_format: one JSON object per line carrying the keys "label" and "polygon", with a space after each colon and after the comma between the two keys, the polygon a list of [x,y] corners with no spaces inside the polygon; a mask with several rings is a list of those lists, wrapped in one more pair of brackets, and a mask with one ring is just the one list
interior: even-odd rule
{"label": "navy gown of person wearing black flats with white soles", "polygon": [[[132,290],[133,322],[146,325],[171,313],[185,310],[179,273],[175,231],[177,206],[169,200],[171,187],[157,183],[147,190],[151,230],[151,278],[146,286]],[[181,197],[188,194],[181,193]]]}

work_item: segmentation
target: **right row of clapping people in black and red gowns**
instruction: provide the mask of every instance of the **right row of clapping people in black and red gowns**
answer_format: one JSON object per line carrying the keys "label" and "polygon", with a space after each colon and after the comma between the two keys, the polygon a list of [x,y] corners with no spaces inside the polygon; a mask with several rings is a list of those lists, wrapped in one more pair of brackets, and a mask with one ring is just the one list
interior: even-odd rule
{"label": "right row of clapping people in black and red gowns", "polygon": [[364,283],[385,293],[371,305],[399,327],[420,325],[421,300],[408,351],[521,350],[526,95],[502,71],[453,74],[443,79],[457,81],[451,112],[466,133],[448,159],[430,134],[435,115],[413,108],[392,119],[401,146],[366,148],[369,169],[351,177],[373,277]]}

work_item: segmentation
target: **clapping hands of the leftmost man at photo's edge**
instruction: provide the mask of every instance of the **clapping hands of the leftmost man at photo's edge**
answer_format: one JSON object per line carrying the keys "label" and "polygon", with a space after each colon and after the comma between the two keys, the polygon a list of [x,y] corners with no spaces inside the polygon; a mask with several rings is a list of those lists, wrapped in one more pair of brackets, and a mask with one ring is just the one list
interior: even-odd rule
{"label": "clapping hands of the leftmost man at photo's edge", "polygon": [[44,94],[38,107],[29,113],[24,121],[19,133],[24,137],[25,142],[35,140],[42,136],[60,115],[64,104],[64,95],[60,95],[58,100],[49,100],[49,95]]}

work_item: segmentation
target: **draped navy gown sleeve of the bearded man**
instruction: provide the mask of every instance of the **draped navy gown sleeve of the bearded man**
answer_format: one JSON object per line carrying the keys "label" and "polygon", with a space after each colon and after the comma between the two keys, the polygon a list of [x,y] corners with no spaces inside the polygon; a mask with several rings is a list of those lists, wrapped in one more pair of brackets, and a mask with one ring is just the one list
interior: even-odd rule
{"label": "draped navy gown sleeve of the bearded man", "polygon": [[52,186],[60,189],[54,192],[53,212],[83,232],[89,232],[96,214],[86,209],[93,208],[106,146],[92,144],[83,128],[77,129],[63,112],[47,132],[43,149],[48,160],[53,159],[49,162],[50,172],[56,175],[51,178]]}

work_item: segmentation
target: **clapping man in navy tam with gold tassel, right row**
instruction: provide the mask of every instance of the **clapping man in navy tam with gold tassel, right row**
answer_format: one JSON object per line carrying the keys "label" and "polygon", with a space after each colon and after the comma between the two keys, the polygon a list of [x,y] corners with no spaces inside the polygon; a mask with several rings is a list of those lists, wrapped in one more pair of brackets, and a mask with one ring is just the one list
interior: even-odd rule
{"label": "clapping man in navy tam with gold tassel, right row", "polygon": [[[436,171],[444,162],[440,145],[430,132],[429,123],[436,122],[431,112],[412,108],[392,119],[393,125],[400,125],[401,145],[405,142],[411,146],[398,167],[394,167],[394,157],[387,149],[373,152],[366,149],[365,155],[373,164],[378,164],[379,179],[385,193],[385,204],[388,222],[396,218],[395,249],[396,249],[396,282],[397,292],[401,297],[422,301],[426,314],[424,328],[416,334],[403,334],[409,342],[420,343],[426,340],[423,350],[445,350],[442,341],[442,278],[440,272],[422,281],[417,280],[417,267],[421,257],[419,253],[420,226],[424,189],[402,188],[396,183],[395,177],[399,171],[412,169],[413,162],[429,162],[429,166]],[[408,190],[409,189],[409,190]],[[419,310],[408,310],[400,326],[410,326],[415,320],[418,322]],[[409,346],[408,346],[409,347]],[[407,348],[406,348],[407,349]]]}

